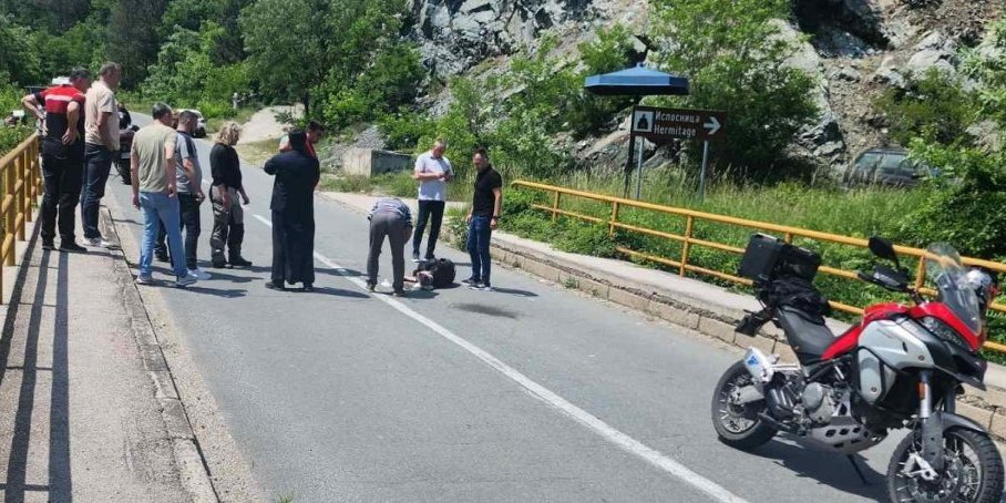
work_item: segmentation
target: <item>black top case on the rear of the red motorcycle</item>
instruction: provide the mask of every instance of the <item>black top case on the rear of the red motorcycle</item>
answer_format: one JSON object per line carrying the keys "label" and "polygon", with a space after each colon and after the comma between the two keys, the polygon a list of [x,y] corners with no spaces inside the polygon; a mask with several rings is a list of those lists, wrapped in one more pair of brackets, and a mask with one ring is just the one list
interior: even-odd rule
{"label": "black top case on the rear of the red motorcycle", "polygon": [[753,234],[740,259],[738,275],[769,281],[780,276],[797,276],[813,281],[821,256],[767,234]]}

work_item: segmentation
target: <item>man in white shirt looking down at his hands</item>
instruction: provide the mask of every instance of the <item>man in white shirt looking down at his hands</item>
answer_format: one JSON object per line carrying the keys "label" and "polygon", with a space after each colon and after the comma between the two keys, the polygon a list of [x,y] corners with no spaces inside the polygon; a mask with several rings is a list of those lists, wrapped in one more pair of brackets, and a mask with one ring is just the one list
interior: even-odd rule
{"label": "man in white shirt looking down at his hands", "polygon": [[412,178],[419,182],[419,215],[415,222],[415,234],[412,236],[412,261],[419,261],[419,245],[422,233],[427,229],[427,219],[431,218],[430,238],[427,240],[427,260],[435,258],[437,238],[440,237],[440,224],[443,222],[443,208],[448,201],[448,182],[454,179],[451,162],[443,156],[448,144],[438,138],[430,152],[415,160]]}

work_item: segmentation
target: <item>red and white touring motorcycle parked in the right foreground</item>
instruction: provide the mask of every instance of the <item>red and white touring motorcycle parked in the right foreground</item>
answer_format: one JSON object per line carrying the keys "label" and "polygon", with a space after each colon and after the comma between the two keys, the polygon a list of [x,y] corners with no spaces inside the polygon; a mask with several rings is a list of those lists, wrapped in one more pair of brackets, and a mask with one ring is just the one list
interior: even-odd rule
{"label": "red and white touring motorcycle parked in the right foreground", "polygon": [[869,247],[894,267],[877,264],[858,277],[907,294],[914,305],[869,307],[859,325],[834,337],[822,316],[827,299],[812,285],[820,257],[752,236],[740,271],[753,279],[763,309],[749,312],[737,329],[753,336],[772,321],[798,361],[780,362],[751,347],[727,369],[712,397],[719,439],[750,450],[789,433],[848,455],[862,478],[852,454],[907,428],[887,466],[891,501],[999,502],[999,452],[982,425],[954,410],[962,384],[985,389],[987,363],[978,351],[996,280],[965,268],[952,246],[934,244],[923,260],[937,295],[927,300],[910,286],[890,242],[873,237]]}

